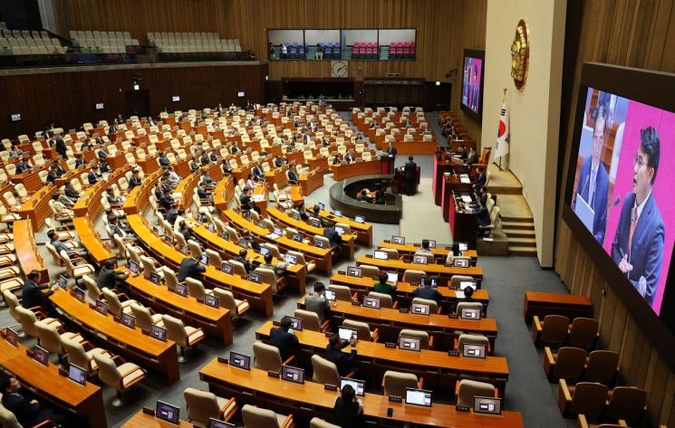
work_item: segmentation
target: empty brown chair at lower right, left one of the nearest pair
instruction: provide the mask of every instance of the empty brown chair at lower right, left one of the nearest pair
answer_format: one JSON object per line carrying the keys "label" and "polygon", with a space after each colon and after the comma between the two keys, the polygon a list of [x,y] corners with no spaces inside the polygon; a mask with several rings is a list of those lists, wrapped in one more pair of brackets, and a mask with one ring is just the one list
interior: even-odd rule
{"label": "empty brown chair at lower right, left one of the nearest pair", "polygon": [[603,413],[607,400],[607,386],[593,382],[579,382],[568,386],[564,379],[558,384],[558,407],[563,416],[584,414],[596,419]]}

